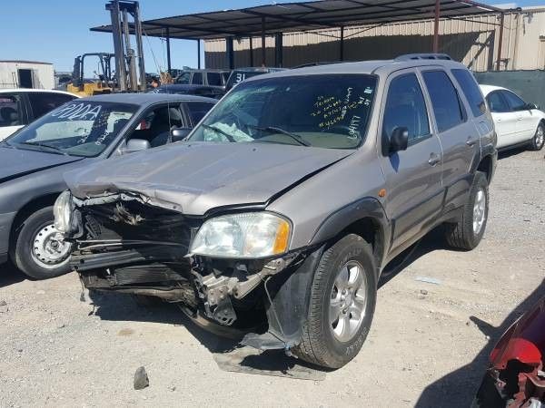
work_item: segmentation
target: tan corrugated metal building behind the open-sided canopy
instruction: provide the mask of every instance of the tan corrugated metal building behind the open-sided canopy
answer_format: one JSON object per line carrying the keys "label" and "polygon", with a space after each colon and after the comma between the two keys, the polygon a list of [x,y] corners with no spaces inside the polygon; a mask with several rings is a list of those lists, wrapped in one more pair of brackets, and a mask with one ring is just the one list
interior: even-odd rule
{"label": "tan corrugated metal building behind the open-sided canopy", "polygon": [[[283,66],[340,60],[340,29],[283,34]],[[500,35],[499,15],[441,19],[440,52],[449,53],[473,71],[495,69]],[[362,25],[344,28],[344,61],[390,59],[402,53],[431,50],[433,21]],[[274,66],[274,37],[266,38],[266,64]],[[234,41],[234,64],[250,66],[250,40]],[[225,40],[204,43],[208,68],[228,66]],[[261,38],[253,38],[253,62],[261,62]],[[501,70],[545,69],[545,7],[505,15]]]}

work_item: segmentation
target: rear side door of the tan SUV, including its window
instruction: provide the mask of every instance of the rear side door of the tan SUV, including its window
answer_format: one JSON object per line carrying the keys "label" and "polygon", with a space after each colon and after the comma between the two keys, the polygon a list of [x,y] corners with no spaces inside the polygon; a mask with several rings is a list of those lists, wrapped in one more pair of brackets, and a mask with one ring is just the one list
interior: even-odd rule
{"label": "rear side door of the tan SUV, including its window", "polygon": [[[430,97],[433,131],[441,141],[442,185],[447,190],[445,210],[448,211],[461,207],[466,200],[472,163],[481,159],[480,135],[474,121],[469,120],[469,112],[449,74],[441,68],[432,68],[422,69],[421,75]],[[482,114],[478,106],[475,108]]]}

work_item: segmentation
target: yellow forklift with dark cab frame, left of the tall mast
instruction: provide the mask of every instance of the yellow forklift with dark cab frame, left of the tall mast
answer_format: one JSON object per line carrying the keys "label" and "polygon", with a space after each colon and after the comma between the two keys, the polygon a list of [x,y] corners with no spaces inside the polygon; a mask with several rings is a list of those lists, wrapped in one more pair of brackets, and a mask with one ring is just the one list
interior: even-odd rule
{"label": "yellow forklift with dark cab frame, left of the tall mast", "polygon": [[[96,73],[96,80],[84,79],[84,59],[95,56],[98,58],[100,73]],[[74,60],[72,82],[66,85],[66,91],[80,96],[103,95],[114,92],[114,78],[112,76],[112,59],[114,53],[84,53]]]}

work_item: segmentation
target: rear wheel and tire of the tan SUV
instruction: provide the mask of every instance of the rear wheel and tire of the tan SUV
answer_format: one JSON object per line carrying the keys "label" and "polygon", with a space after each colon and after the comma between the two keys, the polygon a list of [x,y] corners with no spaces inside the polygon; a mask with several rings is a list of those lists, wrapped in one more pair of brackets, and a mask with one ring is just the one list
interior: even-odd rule
{"label": "rear wheel and tire of the tan SUV", "polygon": [[[477,209],[476,204],[483,206]],[[488,180],[483,172],[477,171],[471,184],[468,202],[462,209],[461,219],[454,224],[446,224],[445,238],[452,248],[471,250],[481,242],[489,212]],[[481,222],[479,222],[481,220]]]}

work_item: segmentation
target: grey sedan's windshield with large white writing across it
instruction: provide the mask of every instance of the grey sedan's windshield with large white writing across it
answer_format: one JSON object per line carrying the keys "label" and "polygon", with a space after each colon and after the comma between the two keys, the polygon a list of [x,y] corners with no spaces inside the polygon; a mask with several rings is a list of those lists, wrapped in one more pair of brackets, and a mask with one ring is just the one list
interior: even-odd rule
{"label": "grey sedan's windshield with large white writing across it", "polygon": [[114,102],[69,102],[5,141],[18,149],[94,157],[117,138],[138,106]]}

